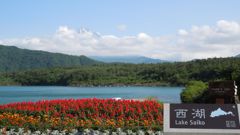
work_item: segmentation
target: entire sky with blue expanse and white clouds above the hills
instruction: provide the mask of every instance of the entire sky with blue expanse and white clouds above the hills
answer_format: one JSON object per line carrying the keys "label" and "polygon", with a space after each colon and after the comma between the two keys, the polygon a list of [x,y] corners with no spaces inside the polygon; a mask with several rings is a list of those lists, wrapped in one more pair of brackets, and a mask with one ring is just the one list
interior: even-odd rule
{"label": "entire sky with blue expanse and white clouds above the hills", "polygon": [[173,61],[240,54],[239,0],[2,0],[0,44]]}

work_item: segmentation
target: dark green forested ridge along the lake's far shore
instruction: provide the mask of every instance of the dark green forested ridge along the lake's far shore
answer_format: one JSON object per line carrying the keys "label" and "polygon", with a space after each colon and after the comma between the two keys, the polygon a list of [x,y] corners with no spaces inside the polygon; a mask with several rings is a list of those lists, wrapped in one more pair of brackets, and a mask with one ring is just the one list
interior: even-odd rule
{"label": "dark green forested ridge along the lake's far shore", "polygon": [[162,64],[98,64],[2,73],[0,84],[19,85],[185,85],[191,80],[236,80],[240,58],[212,58]]}

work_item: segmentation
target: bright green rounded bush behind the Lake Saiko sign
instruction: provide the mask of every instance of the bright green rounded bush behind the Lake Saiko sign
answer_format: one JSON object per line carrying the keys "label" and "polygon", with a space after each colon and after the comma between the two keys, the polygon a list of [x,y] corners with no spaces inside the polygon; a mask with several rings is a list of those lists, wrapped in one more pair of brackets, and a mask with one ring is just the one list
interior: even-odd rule
{"label": "bright green rounded bush behind the Lake Saiko sign", "polygon": [[208,85],[202,81],[190,81],[181,93],[183,103],[196,103],[203,93],[207,90]]}

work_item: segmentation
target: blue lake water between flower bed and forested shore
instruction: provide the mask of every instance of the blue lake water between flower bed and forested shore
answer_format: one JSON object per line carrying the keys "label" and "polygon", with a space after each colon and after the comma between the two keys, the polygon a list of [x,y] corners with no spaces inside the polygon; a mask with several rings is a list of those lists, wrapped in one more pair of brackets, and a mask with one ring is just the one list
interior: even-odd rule
{"label": "blue lake water between flower bed and forested shore", "polygon": [[180,103],[183,87],[62,87],[0,86],[0,104],[62,98],[137,99],[150,96],[162,102]]}

